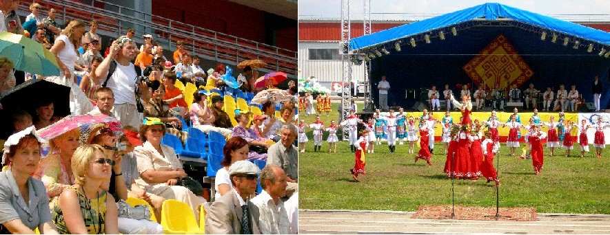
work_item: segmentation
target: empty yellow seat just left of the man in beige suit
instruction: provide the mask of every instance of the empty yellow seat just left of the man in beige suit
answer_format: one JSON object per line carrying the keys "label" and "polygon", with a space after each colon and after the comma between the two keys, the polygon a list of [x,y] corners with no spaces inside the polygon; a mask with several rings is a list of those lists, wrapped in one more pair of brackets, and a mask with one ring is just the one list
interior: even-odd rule
{"label": "empty yellow seat just left of the man in beige suit", "polygon": [[189,205],[174,199],[163,201],[161,226],[165,234],[205,234]]}

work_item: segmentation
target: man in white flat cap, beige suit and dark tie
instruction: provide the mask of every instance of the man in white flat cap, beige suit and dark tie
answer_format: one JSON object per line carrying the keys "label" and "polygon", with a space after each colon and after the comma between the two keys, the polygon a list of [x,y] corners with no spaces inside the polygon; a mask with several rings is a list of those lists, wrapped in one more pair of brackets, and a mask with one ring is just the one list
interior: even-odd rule
{"label": "man in white flat cap, beige suit and dark tie", "polygon": [[236,161],[229,168],[233,190],[212,203],[205,217],[207,234],[261,234],[258,207],[250,202],[261,169],[252,162]]}

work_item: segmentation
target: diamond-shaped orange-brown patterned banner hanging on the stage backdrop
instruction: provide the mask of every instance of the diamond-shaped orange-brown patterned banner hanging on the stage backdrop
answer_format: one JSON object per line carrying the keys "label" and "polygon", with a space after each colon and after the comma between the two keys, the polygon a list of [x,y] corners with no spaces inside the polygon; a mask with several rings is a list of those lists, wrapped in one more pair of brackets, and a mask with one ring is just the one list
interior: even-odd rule
{"label": "diamond-shaped orange-brown patterned banner hanging on the stage backdrop", "polygon": [[482,49],[463,69],[474,84],[483,85],[483,89],[487,91],[496,89],[496,86],[500,90],[510,89],[512,85],[520,87],[533,76],[533,71],[502,34]]}

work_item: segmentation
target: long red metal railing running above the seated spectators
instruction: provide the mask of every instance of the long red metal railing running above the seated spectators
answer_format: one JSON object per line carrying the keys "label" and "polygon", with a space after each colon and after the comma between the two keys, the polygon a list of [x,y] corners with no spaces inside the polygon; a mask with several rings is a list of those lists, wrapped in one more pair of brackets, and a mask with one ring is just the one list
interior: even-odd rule
{"label": "long red metal railing running above the seated spectators", "polygon": [[[37,0],[36,2],[46,9],[55,8],[57,10],[56,18],[63,19],[63,22],[66,19],[84,21],[96,19],[98,33],[102,35],[116,38],[123,35],[128,27],[134,27],[136,35],[156,34],[158,36],[155,38],[156,43],[162,45],[166,50],[175,50],[175,42],[183,40],[186,44],[184,49],[192,54],[198,54],[201,58],[233,66],[242,60],[260,59],[267,63],[267,67],[261,68],[261,71],[283,71],[289,77],[296,78],[297,52],[288,49],[214,32],[101,0],[94,0],[90,5],[67,0]],[[30,1],[23,1],[19,6],[19,13],[27,12],[29,14],[30,3]],[[105,5],[107,9],[95,6],[101,4]],[[124,13],[131,13],[134,16]],[[134,39],[141,40],[140,38]]]}

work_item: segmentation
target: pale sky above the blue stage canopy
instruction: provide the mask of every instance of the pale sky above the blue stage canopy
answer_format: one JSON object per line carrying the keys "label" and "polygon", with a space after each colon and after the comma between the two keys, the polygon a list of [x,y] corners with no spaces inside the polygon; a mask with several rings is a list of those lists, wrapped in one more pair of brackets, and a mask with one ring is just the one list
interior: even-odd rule
{"label": "pale sky above the blue stage canopy", "polygon": [[[564,20],[610,21],[609,0],[371,0],[371,19],[421,20],[487,2],[502,3]],[[350,0],[349,8],[351,20],[363,19],[363,0]],[[340,19],[341,0],[299,0],[298,16],[299,19]]]}

